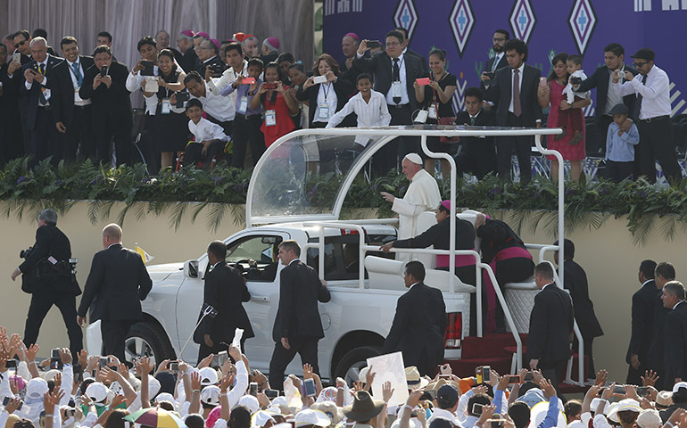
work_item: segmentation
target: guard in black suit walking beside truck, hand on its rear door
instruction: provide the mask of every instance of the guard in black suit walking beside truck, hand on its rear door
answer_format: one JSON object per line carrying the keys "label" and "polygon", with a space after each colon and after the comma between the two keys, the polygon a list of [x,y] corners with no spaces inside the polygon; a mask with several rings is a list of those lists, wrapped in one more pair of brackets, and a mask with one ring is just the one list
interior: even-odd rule
{"label": "guard in black suit walking beside truck, hand on its rear door", "polygon": [[302,364],[319,373],[318,342],[325,337],[319,317],[318,301],[331,299],[327,285],[315,269],[303,263],[301,247],[295,241],[279,244],[279,259],[286,268],[279,274],[279,308],[274,320],[274,352],[269,361],[269,384],[281,389],[284,371],[296,353]]}

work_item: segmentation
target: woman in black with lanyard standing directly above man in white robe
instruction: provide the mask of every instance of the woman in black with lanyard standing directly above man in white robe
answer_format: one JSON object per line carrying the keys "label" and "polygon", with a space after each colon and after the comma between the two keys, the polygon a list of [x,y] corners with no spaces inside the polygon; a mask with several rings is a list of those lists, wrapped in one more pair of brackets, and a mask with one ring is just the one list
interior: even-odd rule
{"label": "woman in black with lanyard standing directly above man in white robe", "polygon": [[[437,124],[437,118],[455,118],[456,113],[453,111],[451,105],[453,94],[456,92],[458,86],[457,79],[451,73],[446,71],[446,52],[442,49],[432,49],[429,53],[429,70],[431,72],[431,83],[426,86],[419,86],[416,81],[413,83],[415,87],[415,97],[418,103],[427,109],[429,115],[426,123]],[[438,114],[437,114],[438,113]],[[442,143],[440,137],[430,136],[427,138],[427,147],[432,152],[456,154],[458,144]],[[424,152],[421,152],[425,160],[425,169],[430,174],[434,175],[435,163],[434,158],[427,158]],[[449,177],[450,166],[448,161],[441,161],[442,175],[445,178]]]}

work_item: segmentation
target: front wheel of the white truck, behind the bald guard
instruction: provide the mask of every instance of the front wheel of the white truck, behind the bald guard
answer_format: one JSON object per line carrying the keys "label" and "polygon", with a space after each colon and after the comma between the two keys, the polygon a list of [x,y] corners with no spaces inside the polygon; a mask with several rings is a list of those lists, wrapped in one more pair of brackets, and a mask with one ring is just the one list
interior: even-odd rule
{"label": "front wheel of the white truck, behind the bald guard", "polygon": [[157,325],[151,323],[137,323],[128,330],[127,339],[124,341],[124,357],[127,361],[134,358],[150,357],[151,363],[174,358],[170,340]]}

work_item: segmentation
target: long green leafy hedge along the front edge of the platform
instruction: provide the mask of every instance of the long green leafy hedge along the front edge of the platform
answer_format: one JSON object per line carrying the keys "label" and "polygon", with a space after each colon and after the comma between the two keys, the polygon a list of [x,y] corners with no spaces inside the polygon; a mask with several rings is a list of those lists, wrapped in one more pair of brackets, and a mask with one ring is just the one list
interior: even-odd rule
{"label": "long green leafy hedge along the front edge of the platform", "polygon": [[[286,172],[288,174],[288,172]],[[170,211],[171,223],[178,226],[181,215],[188,208],[195,210],[194,219],[209,209],[208,224],[212,228],[227,212],[243,219],[240,206],[245,203],[250,171],[230,168],[186,168],[178,172],[163,170],[157,176],[149,176],[143,165],[107,169],[91,161],[66,165],[63,162],[53,168],[48,161],[40,162],[33,169],[27,160],[9,162],[0,173],[0,200],[6,202],[4,214],[12,212],[20,218],[25,210],[35,210],[44,205],[68,210],[76,201],[89,201],[89,217],[109,217],[113,202],[125,202],[120,211],[120,221],[131,207],[137,206],[137,218],[147,213],[160,215]],[[319,197],[329,197],[338,187],[341,176],[327,174],[310,177],[305,198],[312,205]],[[450,186],[439,182],[444,198],[448,198]],[[380,217],[392,216],[391,204],[384,202],[379,192],[402,195],[408,185],[402,175],[391,173],[371,183],[359,177],[344,202],[344,210],[373,208]],[[281,194],[289,186],[289,180],[275,180],[270,194]],[[517,228],[526,224],[543,226],[555,231],[555,211],[558,187],[548,179],[521,185],[504,183],[496,177],[486,177],[477,183],[462,179],[457,181],[457,205],[484,210],[498,215],[509,210],[511,221]],[[135,204],[134,202],[148,202]],[[179,204],[178,202],[198,202]],[[619,185],[608,182],[566,184],[566,226],[568,231],[576,227],[600,227],[605,218],[624,217],[636,243],[645,242],[658,220],[667,239],[679,230],[687,230],[687,193],[685,183],[672,187],[651,185],[644,180],[624,182]],[[35,211],[31,211],[33,215]]]}

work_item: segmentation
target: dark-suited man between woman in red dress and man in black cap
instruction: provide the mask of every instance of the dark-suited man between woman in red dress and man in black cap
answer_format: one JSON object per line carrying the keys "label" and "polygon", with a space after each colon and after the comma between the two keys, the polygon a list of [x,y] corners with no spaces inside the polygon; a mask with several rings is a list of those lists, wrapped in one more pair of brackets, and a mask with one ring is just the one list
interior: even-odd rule
{"label": "dark-suited man between woman in red dress and man in black cap", "polygon": [[[613,78],[613,72],[615,70],[629,71],[633,74],[633,76],[637,75],[637,70],[634,70],[629,65],[625,65],[624,60],[625,49],[622,45],[618,45],[617,43],[611,43],[610,45],[607,45],[603,48],[603,62],[605,62],[606,65],[596,69],[594,74],[583,80],[579,86],[574,86],[575,92],[587,92],[593,88],[596,88],[596,121],[594,122],[594,126],[598,129],[597,132],[599,132],[600,147],[592,148],[589,146],[589,142],[587,142],[587,152],[589,152],[590,149],[598,151],[599,153],[606,152],[608,125],[613,122],[613,116],[609,114],[609,111],[614,105],[625,103],[631,112],[634,111],[634,102],[636,100],[635,95],[626,95],[625,97],[621,97],[620,95],[617,95],[616,91],[614,91],[612,88],[608,90],[608,88],[610,88],[610,82]],[[630,119],[636,120],[638,118]],[[625,132],[630,130],[632,122],[627,121],[626,124],[627,128],[625,129]]]}

